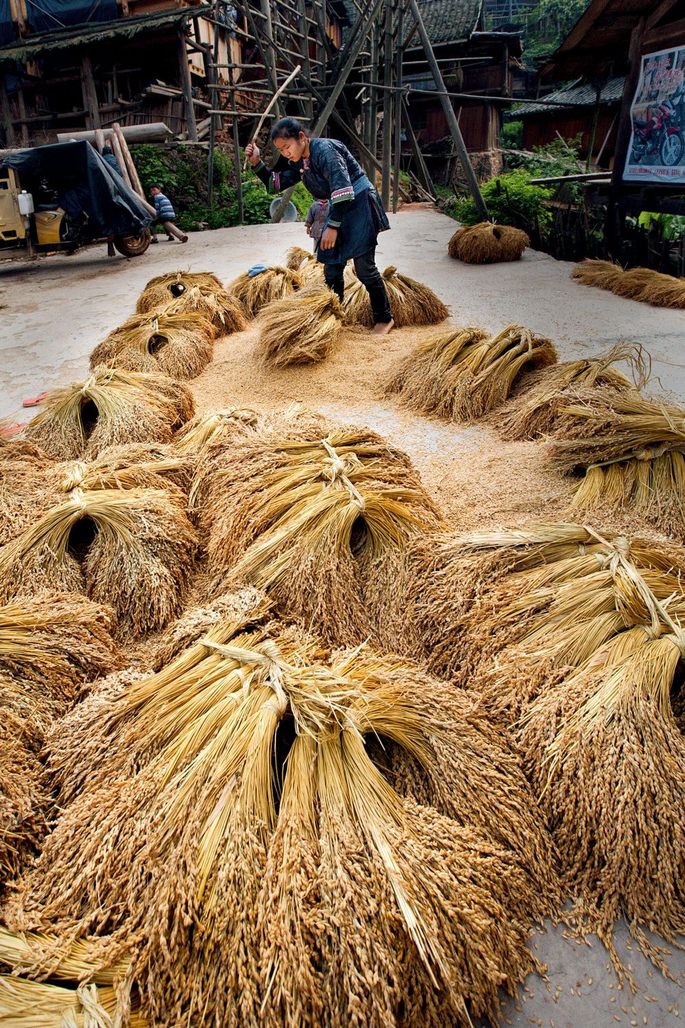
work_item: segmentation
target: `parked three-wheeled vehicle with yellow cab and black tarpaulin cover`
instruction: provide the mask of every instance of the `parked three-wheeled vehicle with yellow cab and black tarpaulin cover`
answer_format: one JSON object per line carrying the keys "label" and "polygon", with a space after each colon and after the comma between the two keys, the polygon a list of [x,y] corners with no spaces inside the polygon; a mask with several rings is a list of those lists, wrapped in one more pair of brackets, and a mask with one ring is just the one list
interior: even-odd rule
{"label": "parked three-wheeled vehicle with yellow cab and black tarpaulin cover", "polygon": [[103,240],[138,257],[150,246],[151,220],[140,196],[87,142],[0,157],[0,256],[73,253]]}

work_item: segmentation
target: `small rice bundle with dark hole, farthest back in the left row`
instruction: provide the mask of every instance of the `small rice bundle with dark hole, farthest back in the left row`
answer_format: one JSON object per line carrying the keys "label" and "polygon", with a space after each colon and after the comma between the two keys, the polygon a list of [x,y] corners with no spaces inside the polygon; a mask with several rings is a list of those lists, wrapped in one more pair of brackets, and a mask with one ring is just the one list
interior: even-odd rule
{"label": "small rice bundle with dark hole, farthest back in the left row", "polygon": [[151,279],[138,298],[136,313],[195,315],[212,322],[220,335],[248,327],[242,305],[210,271],[172,271]]}

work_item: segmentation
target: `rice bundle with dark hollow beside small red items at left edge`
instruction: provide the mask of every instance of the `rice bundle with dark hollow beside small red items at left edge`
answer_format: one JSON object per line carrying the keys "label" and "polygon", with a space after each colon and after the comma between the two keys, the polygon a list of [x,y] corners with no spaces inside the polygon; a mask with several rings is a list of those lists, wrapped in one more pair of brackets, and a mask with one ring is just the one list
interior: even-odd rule
{"label": "rice bundle with dark hollow beside small red items at left edge", "polygon": [[84,381],[48,393],[26,435],[58,460],[93,457],[116,444],[169,442],[194,412],[181,382],[100,367]]}

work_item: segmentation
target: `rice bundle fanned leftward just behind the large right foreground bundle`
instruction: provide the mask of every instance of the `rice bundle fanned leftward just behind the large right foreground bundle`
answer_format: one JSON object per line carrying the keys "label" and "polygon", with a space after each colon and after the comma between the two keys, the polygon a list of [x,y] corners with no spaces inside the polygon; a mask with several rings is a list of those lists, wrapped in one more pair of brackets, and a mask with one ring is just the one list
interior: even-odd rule
{"label": "rice bundle fanned leftward just behind the large right foreground bundle", "polygon": [[[405,616],[433,673],[472,683],[496,656],[494,685],[488,678],[479,688],[494,706],[518,709],[536,688],[538,666],[546,674],[579,665],[613,635],[650,622],[617,553],[659,596],[682,596],[677,553],[559,523],[419,538],[408,561]],[[502,651],[515,645],[505,660]]]}

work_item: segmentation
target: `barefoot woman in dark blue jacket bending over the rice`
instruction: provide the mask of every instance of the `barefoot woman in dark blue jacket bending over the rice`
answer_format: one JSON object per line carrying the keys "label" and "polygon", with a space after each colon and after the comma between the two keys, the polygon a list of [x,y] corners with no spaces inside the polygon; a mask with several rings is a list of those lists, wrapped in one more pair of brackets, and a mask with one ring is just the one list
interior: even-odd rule
{"label": "barefoot woman in dark blue jacket bending over the rice", "polygon": [[342,301],[345,265],[353,260],[371,298],[374,332],[385,335],[394,323],[375,255],[378,233],[390,226],[375,187],[346,146],[336,139],[310,139],[295,118],[276,121],[271,139],[280,153],[273,171],[254,143],[245,147],[250,163],[269,192],[302,180],[313,196],[331,201],[316,249],[327,285]]}

